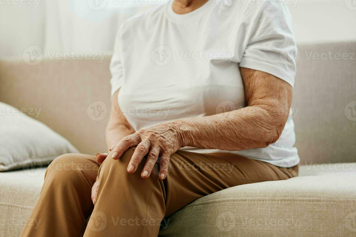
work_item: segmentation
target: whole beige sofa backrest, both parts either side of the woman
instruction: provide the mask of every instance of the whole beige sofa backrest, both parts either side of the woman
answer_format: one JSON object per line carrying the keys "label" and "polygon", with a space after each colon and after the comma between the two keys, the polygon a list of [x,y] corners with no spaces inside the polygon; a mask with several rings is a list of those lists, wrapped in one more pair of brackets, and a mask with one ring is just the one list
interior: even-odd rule
{"label": "whole beige sofa backrest, both parts either side of the woman", "polygon": [[[302,164],[356,161],[356,41],[298,48],[292,109]],[[32,117],[39,112],[38,120],[83,153],[105,152],[110,58],[0,61],[0,101]]]}

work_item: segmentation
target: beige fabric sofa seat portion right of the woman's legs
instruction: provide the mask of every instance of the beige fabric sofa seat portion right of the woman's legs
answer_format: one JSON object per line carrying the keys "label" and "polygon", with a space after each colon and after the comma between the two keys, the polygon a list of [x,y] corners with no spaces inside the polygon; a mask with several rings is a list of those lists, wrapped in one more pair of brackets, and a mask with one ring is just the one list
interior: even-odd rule
{"label": "beige fabric sofa seat portion right of the woman's legs", "polygon": [[162,236],[355,236],[356,173],[232,187],[168,217]]}

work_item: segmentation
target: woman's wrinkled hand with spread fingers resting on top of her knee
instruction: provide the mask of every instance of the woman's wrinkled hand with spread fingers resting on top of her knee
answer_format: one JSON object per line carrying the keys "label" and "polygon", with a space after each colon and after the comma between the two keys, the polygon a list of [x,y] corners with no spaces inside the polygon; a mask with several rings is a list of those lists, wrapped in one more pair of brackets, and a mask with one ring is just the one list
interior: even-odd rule
{"label": "woman's wrinkled hand with spread fingers resting on top of her knee", "polygon": [[112,158],[119,159],[127,149],[133,146],[137,147],[131,157],[127,172],[135,173],[143,157],[148,154],[141,177],[150,177],[152,169],[160,157],[159,178],[164,179],[168,173],[169,157],[182,147],[182,139],[174,126],[168,123],[157,124],[122,138],[119,144],[110,149]]}

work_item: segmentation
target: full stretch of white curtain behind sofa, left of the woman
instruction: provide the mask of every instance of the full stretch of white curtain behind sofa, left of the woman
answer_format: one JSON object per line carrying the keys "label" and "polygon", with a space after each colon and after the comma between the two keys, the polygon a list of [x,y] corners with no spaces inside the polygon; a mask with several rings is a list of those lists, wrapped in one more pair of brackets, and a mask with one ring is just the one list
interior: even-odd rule
{"label": "full stretch of white curtain behind sofa, left of the woman", "polygon": [[30,2],[34,4],[0,5],[0,58],[21,57],[34,45],[41,48],[43,57],[53,52],[110,52],[117,29],[127,17],[156,6],[137,0]]}

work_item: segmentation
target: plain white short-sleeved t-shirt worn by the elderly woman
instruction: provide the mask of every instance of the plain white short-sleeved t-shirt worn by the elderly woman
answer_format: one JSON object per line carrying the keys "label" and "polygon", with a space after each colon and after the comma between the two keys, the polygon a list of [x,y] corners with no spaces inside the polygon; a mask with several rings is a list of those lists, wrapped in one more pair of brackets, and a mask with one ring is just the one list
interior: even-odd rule
{"label": "plain white short-sleeved t-shirt worn by the elderly woman", "polygon": [[[246,106],[240,68],[267,72],[293,86],[296,52],[292,19],[283,2],[209,0],[179,15],[172,2],[127,19],[111,59],[113,95],[135,130],[180,118]],[[291,167],[299,163],[289,115],[280,138],[265,148],[231,152]]]}

